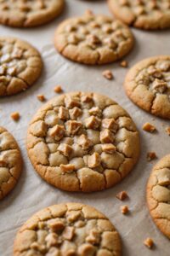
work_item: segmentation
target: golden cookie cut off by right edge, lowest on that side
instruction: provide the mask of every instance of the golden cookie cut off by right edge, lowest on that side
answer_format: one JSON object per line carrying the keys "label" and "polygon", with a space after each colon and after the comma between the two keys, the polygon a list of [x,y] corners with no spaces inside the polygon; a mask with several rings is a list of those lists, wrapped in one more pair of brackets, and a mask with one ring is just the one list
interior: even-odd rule
{"label": "golden cookie cut off by right edge, lowest on that side", "polygon": [[159,230],[170,239],[170,154],[154,166],[146,197],[151,217]]}

